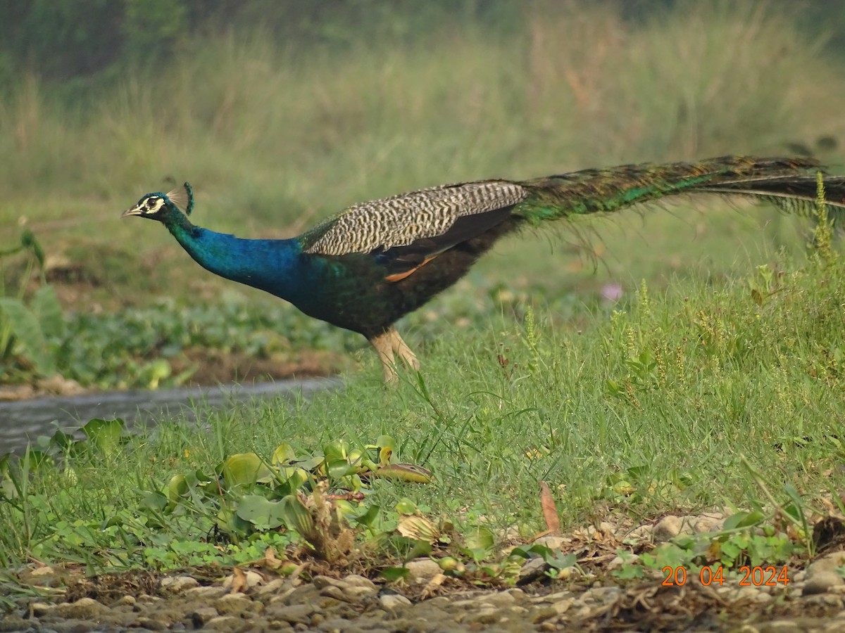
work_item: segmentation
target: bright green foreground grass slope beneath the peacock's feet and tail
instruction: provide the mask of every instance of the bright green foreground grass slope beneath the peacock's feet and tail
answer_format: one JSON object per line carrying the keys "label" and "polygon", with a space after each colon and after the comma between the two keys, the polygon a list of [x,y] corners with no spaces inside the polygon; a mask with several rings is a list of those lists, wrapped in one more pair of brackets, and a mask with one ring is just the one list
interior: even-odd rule
{"label": "bright green foreground grass slope beneath the peacock's feet and tail", "polygon": [[[521,302],[516,320],[508,309],[474,331],[441,325],[423,351],[423,374],[406,374],[395,391],[384,391],[372,359],[342,392],[292,408],[206,411],[201,428],[164,422],[110,453],[72,460],[70,471],[41,468],[0,508],[3,563],[164,565],[144,552],[202,543],[215,522],[200,511],[172,524],[140,521],[144,499],[166,491],[174,474],[213,472],[235,453],[269,459],[284,442],[311,454],[383,435],[396,439],[398,460],[435,478],[373,482],[366,503],[388,525],[409,498],[459,533],[482,526],[500,542],[514,529],[528,538],[543,528],[541,480],[553,487],[564,529],[724,506],[765,507],[774,517],[772,500],[788,505],[792,489],[821,509],[845,484],[836,422],[842,274],[838,261],[784,260],[726,284],[687,279],[654,293],[643,284],[614,309],[570,306],[568,322],[597,322],[584,331],[560,323],[550,306]],[[68,486],[68,476],[84,485]],[[97,533],[110,517],[134,517],[133,547]]]}

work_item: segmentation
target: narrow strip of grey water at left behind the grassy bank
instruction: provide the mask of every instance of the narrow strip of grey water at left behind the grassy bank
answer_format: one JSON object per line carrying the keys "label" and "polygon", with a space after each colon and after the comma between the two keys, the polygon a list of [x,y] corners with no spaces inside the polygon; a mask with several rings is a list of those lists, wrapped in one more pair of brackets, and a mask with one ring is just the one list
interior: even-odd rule
{"label": "narrow strip of grey water at left behind the grassy bank", "polygon": [[337,380],[318,378],[251,386],[106,392],[0,402],[0,455],[21,453],[27,442],[35,441],[38,436],[52,436],[57,428],[73,434],[92,418],[122,418],[130,428],[133,423],[155,425],[160,419],[192,420],[198,409],[234,408],[238,403],[261,398],[292,399],[299,393],[308,396],[316,391],[337,388],[340,384]]}

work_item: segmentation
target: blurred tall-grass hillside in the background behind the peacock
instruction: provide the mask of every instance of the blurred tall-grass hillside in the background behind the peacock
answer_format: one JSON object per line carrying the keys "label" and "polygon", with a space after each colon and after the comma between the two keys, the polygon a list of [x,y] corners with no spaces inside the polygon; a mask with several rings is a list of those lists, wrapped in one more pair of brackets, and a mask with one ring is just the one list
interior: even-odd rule
{"label": "blurred tall-grass hillside in the background behind the peacock", "polygon": [[[200,225],[283,237],[348,204],[447,181],[791,154],[819,138],[822,158],[840,161],[845,62],[825,46],[832,23],[814,32],[796,3],[94,4],[122,24],[106,41],[74,45],[56,30],[46,35],[66,46],[63,65],[35,45],[29,61],[0,57],[0,245],[34,230],[71,307],[252,296],[197,268],[160,226],[119,219],[184,180]],[[54,23],[45,3],[25,5],[3,10],[35,28],[41,8]],[[83,9],[55,6],[71,22]],[[112,59],[116,33],[128,44]],[[587,219],[552,246],[548,235],[510,241],[476,279],[627,288],[802,246],[793,220],[746,211]]]}

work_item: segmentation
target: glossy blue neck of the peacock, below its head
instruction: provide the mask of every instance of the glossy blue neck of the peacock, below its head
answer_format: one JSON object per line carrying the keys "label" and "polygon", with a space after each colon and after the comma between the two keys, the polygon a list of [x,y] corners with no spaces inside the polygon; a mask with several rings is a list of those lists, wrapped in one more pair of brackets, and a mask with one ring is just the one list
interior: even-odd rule
{"label": "glossy blue neck of the peacock, below its head", "polygon": [[167,229],[188,254],[221,277],[291,301],[312,283],[302,268],[302,249],[296,239],[243,240],[194,226],[183,214],[168,220]]}

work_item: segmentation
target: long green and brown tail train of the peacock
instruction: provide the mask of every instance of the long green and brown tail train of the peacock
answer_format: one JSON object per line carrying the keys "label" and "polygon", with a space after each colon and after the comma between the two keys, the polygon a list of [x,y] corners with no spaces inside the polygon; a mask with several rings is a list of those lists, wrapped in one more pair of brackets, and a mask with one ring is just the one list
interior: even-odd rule
{"label": "long green and brown tail train of the peacock", "polygon": [[[815,213],[816,174],[810,159],[722,156],[699,163],[623,165],[520,182],[530,193],[514,215],[532,225],[570,215],[609,213],[683,193],[750,196],[790,214]],[[845,216],[845,176],[826,176],[831,219]]]}

